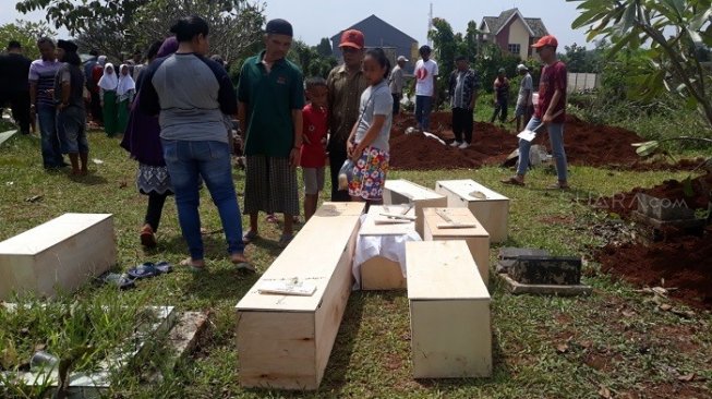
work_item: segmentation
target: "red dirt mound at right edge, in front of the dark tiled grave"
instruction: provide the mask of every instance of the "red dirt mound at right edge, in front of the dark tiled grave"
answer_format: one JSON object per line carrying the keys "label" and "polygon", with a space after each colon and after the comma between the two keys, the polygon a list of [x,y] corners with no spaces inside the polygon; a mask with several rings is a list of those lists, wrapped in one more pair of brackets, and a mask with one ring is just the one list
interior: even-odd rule
{"label": "red dirt mound at right edge, in front of the dark tiled grave", "polygon": [[608,245],[599,254],[603,271],[636,286],[676,288],[669,295],[690,306],[712,310],[712,234],[666,242]]}

